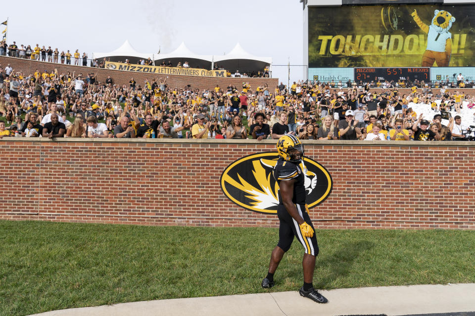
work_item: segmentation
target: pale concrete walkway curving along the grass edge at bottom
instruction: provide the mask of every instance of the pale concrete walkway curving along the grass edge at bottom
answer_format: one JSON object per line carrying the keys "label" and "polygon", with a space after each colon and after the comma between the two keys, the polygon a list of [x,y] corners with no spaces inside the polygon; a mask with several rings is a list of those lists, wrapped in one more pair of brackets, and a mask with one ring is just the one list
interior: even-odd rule
{"label": "pale concrete walkway curving along the grass edge at bottom", "polygon": [[[145,301],[41,316],[339,316],[475,312],[475,284],[381,286],[322,291],[327,304],[297,291]],[[470,313],[472,314],[472,313]]]}

